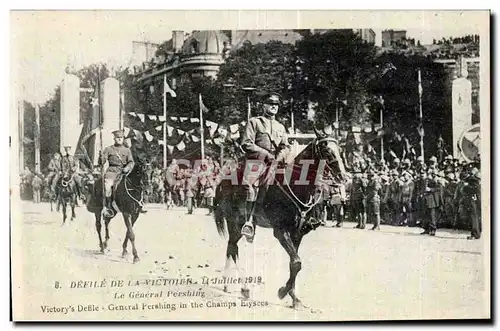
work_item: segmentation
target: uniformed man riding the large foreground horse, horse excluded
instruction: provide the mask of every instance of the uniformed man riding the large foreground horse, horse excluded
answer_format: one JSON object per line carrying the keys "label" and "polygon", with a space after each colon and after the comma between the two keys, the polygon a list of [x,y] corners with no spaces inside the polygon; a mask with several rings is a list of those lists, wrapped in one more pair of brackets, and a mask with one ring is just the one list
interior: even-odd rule
{"label": "uniformed man riding the large foreground horse, horse excluded", "polygon": [[253,241],[256,221],[253,214],[260,208],[267,191],[268,181],[265,179],[269,173],[270,165],[281,161],[290,151],[286,130],[283,124],[275,117],[281,105],[281,98],[276,93],[269,93],[264,99],[263,115],[250,118],[241,140],[241,147],[247,160],[263,161],[265,167],[256,181],[243,181],[246,190],[246,215],[247,219],[241,229],[241,234],[248,241]]}

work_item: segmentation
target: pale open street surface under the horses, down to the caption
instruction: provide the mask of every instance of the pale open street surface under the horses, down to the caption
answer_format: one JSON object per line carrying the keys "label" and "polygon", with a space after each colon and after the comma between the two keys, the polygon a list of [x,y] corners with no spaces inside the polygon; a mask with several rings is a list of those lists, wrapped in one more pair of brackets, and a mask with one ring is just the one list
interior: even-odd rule
{"label": "pale open street surface under the horses, down to the caption", "polygon": [[[296,294],[305,307],[296,310],[290,308],[289,297],[277,297],[288,278],[289,259],[271,229],[258,228],[253,244],[240,241],[240,267],[245,276],[262,279],[260,284],[250,285],[250,299],[245,301],[237,284],[224,292],[222,285],[202,282],[204,276],[220,279],[223,275],[227,244],[206,209],[187,215],[185,208],[147,207],[149,212],[141,214],[134,226],[141,260],[132,263],[131,254],[121,257],[125,236],[122,215],[112,219],[109,247],[102,254],[93,214],[84,207],[76,209],[75,220],[62,224],[62,213],[51,212],[48,204],[22,202],[21,217],[13,218],[16,223],[12,224],[14,319],[356,321],[489,317],[487,235],[470,241],[465,231],[438,230],[436,237],[429,237],[419,235],[419,228],[383,225],[375,232],[354,229],[355,224],[349,222],[343,228],[327,224],[308,234],[300,247],[302,271]],[[238,275],[235,269],[231,272]],[[145,283],[188,278],[197,284]],[[121,287],[118,281],[123,282]],[[137,281],[140,286],[135,286]],[[160,291],[161,298],[129,297],[131,293]],[[166,297],[168,291],[170,296]],[[186,296],[173,297],[174,293]],[[135,304],[137,310],[113,310],[133,309]]]}

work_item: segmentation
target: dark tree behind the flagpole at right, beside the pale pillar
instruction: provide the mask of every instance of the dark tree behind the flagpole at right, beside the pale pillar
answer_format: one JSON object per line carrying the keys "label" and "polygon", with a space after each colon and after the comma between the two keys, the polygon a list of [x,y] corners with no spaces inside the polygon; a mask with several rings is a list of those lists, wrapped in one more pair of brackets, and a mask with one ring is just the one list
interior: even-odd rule
{"label": "dark tree behind the flagpole at right, beside the pale pillar", "polygon": [[417,144],[419,120],[418,68],[422,75],[422,110],[427,155],[435,153],[439,134],[451,144],[451,84],[444,68],[421,55],[383,54],[379,64],[390,61],[397,67],[392,75],[376,81],[373,92],[385,100],[386,133],[397,131]]}

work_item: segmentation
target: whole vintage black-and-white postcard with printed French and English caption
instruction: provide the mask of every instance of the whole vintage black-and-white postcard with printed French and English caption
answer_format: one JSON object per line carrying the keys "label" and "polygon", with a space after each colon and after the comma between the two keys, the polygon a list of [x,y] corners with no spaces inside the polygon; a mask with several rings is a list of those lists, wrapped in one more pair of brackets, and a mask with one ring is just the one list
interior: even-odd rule
{"label": "whole vintage black-and-white postcard with printed French and English caption", "polygon": [[11,11],[15,321],[491,319],[489,11]]}

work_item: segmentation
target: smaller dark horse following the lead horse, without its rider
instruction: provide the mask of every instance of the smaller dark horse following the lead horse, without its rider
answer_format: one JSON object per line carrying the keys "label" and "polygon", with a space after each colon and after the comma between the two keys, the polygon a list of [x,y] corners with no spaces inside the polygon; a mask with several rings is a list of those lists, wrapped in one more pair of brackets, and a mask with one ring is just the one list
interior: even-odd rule
{"label": "smaller dark horse following the lead horse, without its rider", "polygon": [[[149,163],[141,160],[140,158],[135,159],[135,166],[128,175],[120,175],[115,183],[116,188],[113,190],[113,197],[116,207],[118,207],[119,212],[123,215],[123,220],[125,221],[125,226],[127,227],[127,232],[125,239],[123,241],[123,253],[122,257],[127,255],[127,244],[128,241],[132,243],[132,254],[134,255],[134,263],[139,261],[139,256],[137,255],[137,250],[135,248],[135,234],[133,227],[137,218],[139,217],[140,211],[142,209],[141,203],[143,199],[143,187],[147,185],[150,176],[150,165]],[[97,176],[94,182],[93,194],[90,196],[90,200],[87,203],[87,210],[95,215],[95,226],[97,234],[99,236],[99,247],[101,252],[104,253],[105,249],[108,247],[109,240],[109,222],[116,216],[116,214],[111,217],[104,217],[102,215],[103,210],[103,189],[102,189],[102,177]],[[106,237],[103,242],[102,240],[102,224],[101,218],[104,218],[104,225],[106,230]]]}

